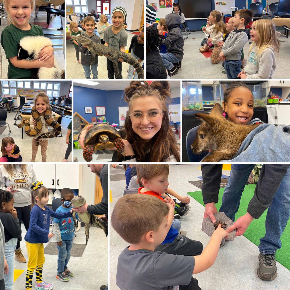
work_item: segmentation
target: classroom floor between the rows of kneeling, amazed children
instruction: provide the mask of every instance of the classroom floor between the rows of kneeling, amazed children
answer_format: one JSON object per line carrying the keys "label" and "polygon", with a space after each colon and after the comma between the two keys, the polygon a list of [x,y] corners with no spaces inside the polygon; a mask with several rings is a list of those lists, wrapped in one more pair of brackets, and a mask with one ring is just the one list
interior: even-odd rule
{"label": "classroom floor between the rows of kneeling, amazed children", "polygon": [[[284,30],[278,30],[284,32]],[[197,38],[197,39],[194,39]],[[202,31],[191,32],[187,39],[184,39],[184,56],[182,59],[182,67],[176,75],[171,79],[227,79],[226,74],[222,73],[222,61],[217,64],[211,64],[209,57],[204,57],[198,48],[204,33]],[[277,67],[273,73],[273,79],[285,79],[290,74],[289,67],[289,45],[290,37],[279,36],[280,51],[279,57],[276,58]],[[247,58],[249,42],[244,46],[244,56]]]}

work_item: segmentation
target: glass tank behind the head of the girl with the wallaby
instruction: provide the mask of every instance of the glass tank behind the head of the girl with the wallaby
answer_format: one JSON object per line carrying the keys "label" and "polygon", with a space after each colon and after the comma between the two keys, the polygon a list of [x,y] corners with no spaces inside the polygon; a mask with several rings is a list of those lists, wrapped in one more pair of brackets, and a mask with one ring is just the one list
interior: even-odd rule
{"label": "glass tank behind the head of the girl with the wallaby", "polygon": [[[221,104],[224,100],[224,91],[233,81],[220,81]],[[266,108],[268,96],[268,81],[243,81],[249,86],[254,97],[254,108]]]}

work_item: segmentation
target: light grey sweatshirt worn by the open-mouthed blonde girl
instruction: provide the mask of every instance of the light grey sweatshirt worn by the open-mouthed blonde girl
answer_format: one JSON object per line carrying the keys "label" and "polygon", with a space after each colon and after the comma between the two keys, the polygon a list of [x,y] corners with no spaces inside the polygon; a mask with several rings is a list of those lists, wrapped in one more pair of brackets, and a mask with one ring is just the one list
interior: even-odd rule
{"label": "light grey sweatshirt worn by the open-mouthed blonde girl", "polygon": [[271,79],[276,69],[276,57],[273,48],[266,48],[262,55],[257,56],[257,46],[249,54],[244,68],[247,79]]}

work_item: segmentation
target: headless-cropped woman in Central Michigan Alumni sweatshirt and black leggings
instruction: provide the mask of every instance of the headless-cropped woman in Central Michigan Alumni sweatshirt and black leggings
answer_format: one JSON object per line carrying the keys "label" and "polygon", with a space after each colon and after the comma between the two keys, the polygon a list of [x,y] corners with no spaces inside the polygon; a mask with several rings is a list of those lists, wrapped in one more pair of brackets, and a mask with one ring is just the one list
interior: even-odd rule
{"label": "headless-cropped woman in Central Michigan Alumni sweatshirt and black leggings", "polygon": [[[5,164],[0,166],[0,189],[9,191],[14,197],[14,208],[17,210],[18,219],[23,222],[26,231],[29,227],[31,209],[31,190],[30,186],[37,180],[35,172],[30,164]],[[19,238],[15,260],[19,263],[26,263],[21,248]]]}

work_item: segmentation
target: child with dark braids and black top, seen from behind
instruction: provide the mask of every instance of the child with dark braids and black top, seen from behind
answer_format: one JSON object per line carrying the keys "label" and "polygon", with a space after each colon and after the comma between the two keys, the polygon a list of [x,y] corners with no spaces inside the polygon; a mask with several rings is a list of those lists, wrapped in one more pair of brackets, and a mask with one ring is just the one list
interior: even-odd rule
{"label": "child with dark braids and black top, seen from behind", "polygon": [[146,78],[168,79],[165,66],[159,52],[161,40],[154,26],[146,27]]}

